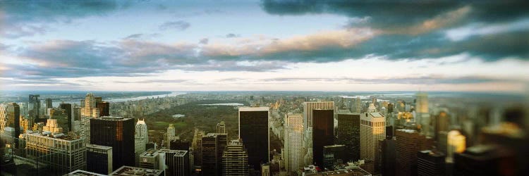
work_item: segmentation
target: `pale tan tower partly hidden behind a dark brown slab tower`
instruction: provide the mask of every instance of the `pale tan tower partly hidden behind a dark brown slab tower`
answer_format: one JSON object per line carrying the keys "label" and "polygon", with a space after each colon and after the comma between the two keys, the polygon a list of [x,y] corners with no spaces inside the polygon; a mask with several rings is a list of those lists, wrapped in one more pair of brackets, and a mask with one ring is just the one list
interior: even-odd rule
{"label": "pale tan tower partly hidden behind a dark brown slab tower", "polygon": [[334,110],[334,101],[324,102],[303,102],[303,127],[305,134],[303,139],[303,163],[304,165],[311,165],[313,157],[312,149],[312,110]]}

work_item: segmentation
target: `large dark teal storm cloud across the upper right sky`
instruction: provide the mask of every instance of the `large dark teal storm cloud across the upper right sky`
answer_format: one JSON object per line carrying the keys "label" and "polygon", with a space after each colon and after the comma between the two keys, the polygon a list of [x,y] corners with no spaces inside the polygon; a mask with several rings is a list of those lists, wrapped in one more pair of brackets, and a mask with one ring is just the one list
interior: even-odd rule
{"label": "large dark teal storm cloud across the upper right sky", "polygon": [[[529,18],[529,1],[262,1],[274,15],[332,13],[351,18],[348,28],[370,27],[380,34],[350,46],[310,51],[279,51],[263,59],[293,62],[343,61],[374,54],[387,59],[439,58],[468,53],[485,61],[506,57],[529,59],[529,24],[521,31],[482,34],[451,41],[444,32],[469,23],[509,24]],[[239,58],[252,56],[233,56]]]}

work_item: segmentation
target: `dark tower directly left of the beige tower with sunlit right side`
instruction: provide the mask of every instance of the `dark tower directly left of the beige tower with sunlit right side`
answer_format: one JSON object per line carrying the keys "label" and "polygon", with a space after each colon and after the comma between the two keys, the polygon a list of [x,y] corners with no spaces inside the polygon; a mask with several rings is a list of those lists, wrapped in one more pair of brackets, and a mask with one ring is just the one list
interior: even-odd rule
{"label": "dark tower directly left of the beige tower with sunlit right side", "polygon": [[360,114],[339,113],[338,139],[336,144],[346,146],[344,161],[358,161],[360,159]]}

